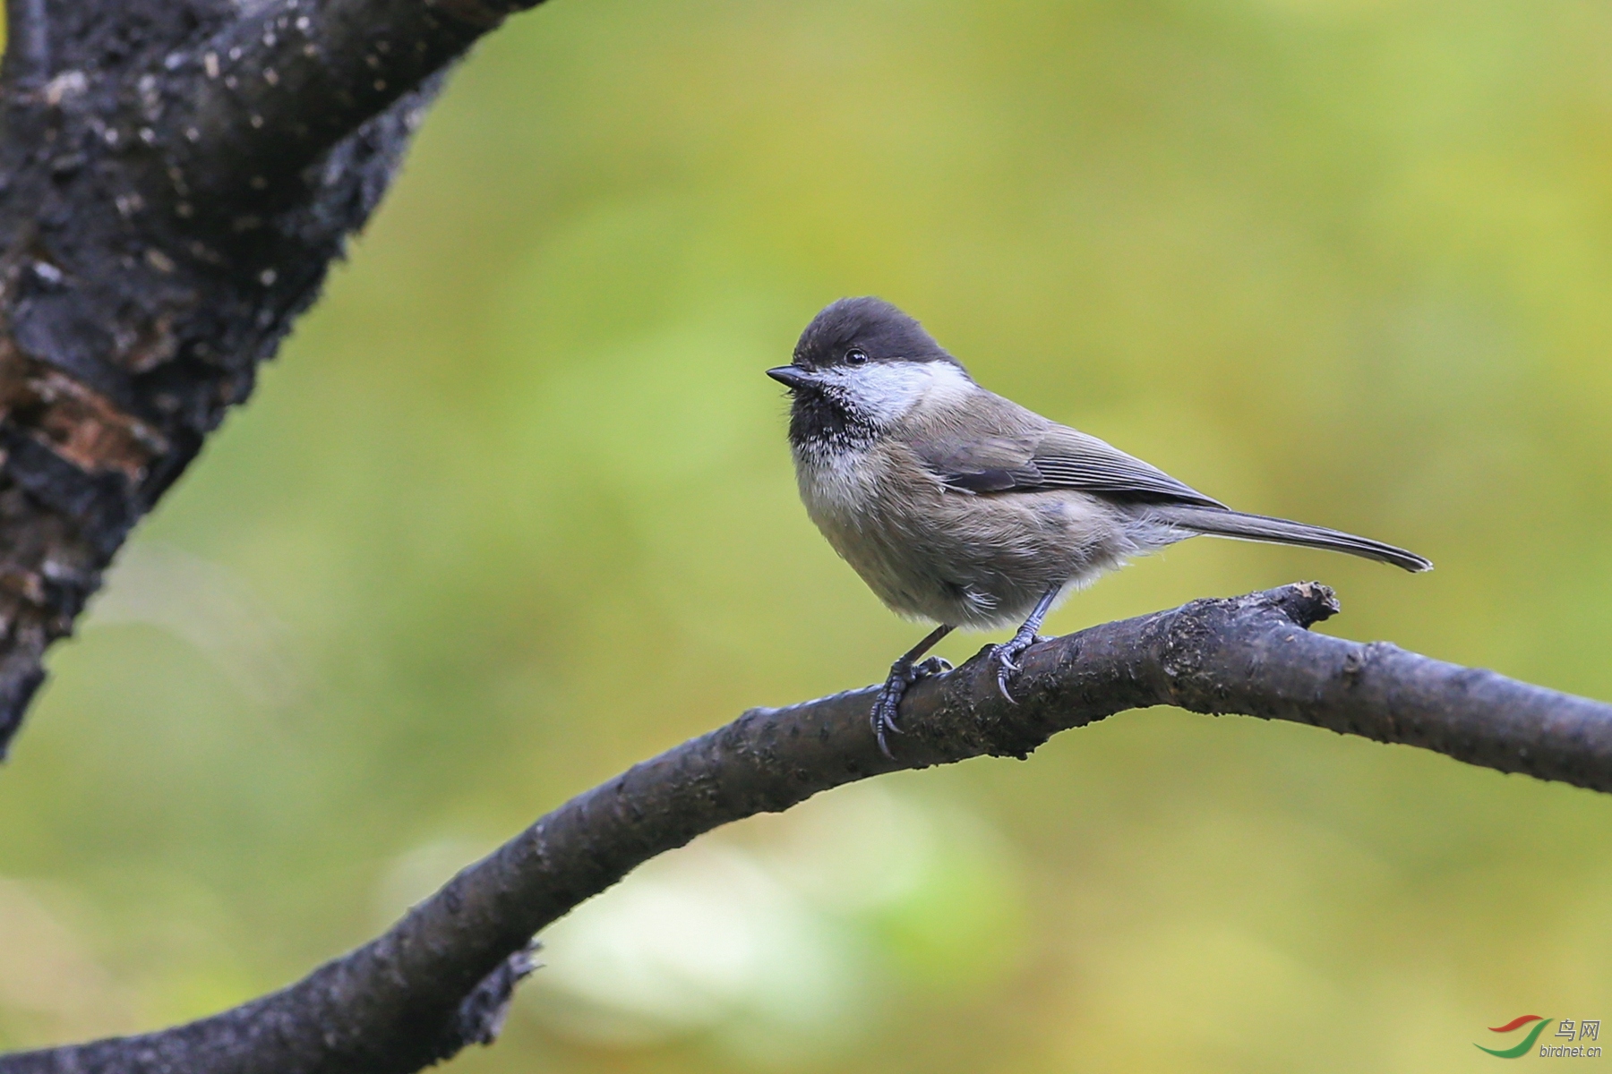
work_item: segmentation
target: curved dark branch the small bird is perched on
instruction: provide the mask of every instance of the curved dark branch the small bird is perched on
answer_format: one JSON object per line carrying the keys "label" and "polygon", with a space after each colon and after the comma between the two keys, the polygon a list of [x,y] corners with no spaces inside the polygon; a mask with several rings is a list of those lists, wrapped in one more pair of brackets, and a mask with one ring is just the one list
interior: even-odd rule
{"label": "curved dark branch the small bird is perched on", "polygon": [[1612,791],[1612,705],[1309,633],[1336,610],[1328,588],[1306,583],[1093,626],[1022,657],[1017,704],[996,694],[982,651],[909,691],[895,758],[869,729],[877,688],[753,708],[561,805],[280,992],[142,1037],[0,1056],[0,1074],[416,1071],[485,1042],[529,939],[648,858],[854,779],[1025,757],[1127,708],[1293,720]]}

